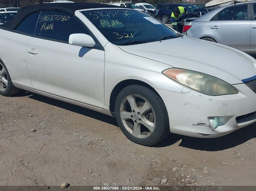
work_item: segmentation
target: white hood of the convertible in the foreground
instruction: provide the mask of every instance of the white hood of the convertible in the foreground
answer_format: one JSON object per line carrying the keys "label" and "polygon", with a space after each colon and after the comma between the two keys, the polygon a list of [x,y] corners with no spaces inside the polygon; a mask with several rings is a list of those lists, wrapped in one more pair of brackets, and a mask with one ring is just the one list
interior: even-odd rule
{"label": "white hood of the convertible in the foreground", "polygon": [[127,53],[209,74],[230,84],[243,83],[242,80],[256,75],[253,57],[225,45],[191,37],[119,47]]}

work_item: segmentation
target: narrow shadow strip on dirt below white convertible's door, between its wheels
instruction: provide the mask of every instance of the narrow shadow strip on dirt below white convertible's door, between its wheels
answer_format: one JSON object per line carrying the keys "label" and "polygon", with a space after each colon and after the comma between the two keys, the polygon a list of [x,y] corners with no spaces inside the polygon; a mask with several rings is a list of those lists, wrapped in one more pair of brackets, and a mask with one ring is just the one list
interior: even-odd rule
{"label": "narrow shadow strip on dirt below white convertible's door, between its wheels", "polygon": [[25,97],[25,96],[28,96],[28,98],[30,98],[30,99],[37,100],[37,101],[40,101],[43,103],[47,103],[47,104],[50,104],[50,105],[53,105],[56,107],[60,107],[62,109],[72,111],[75,113],[79,113],[81,115],[88,116],[93,119],[97,119],[97,120],[100,120],[100,121],[103,121],[103,122],[106,122],[106,123],[109,123],[111,125],[118,127],[117,121],[114,117],[107,116],[105,114],[102,114],[102,113],[99,113],[99,112],[96,112],[93,110],[89,110],[84,107],[76,106],[71,103],[66,103],[63,101],[55,100],[50,97],[45,97],[45,96],[42,96],[39,94],[34,94],[34,93],[31,93],[28,91],[21,91],[19,94],[16,94],[13,97]]}

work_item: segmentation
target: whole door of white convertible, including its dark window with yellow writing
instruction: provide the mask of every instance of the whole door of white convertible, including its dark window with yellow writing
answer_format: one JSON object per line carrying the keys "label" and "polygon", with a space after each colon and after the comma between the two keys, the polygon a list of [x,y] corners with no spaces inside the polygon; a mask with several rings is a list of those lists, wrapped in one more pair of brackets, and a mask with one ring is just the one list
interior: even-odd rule
{"label": "whole door of white convertible, including its dark window with yellow writing", "polygon": [[72,33],[90,35],[72,15],[42,11],[35,35],[28,40],[26,62],[32,87],[47,94],[104,106],[105,51],[68,44]]}

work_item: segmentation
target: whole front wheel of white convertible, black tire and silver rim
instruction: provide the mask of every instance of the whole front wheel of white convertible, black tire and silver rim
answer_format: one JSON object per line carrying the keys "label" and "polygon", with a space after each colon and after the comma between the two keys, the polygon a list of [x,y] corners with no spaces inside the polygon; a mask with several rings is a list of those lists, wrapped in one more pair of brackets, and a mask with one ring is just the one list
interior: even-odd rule
{"label": "whole front wheel of white convertible, black tire and silver rim", "polygon": [[139,145],[155,145],[170,133],[163,101],[141,85],[127,86],[118,94],[115,116],[124,135]]}

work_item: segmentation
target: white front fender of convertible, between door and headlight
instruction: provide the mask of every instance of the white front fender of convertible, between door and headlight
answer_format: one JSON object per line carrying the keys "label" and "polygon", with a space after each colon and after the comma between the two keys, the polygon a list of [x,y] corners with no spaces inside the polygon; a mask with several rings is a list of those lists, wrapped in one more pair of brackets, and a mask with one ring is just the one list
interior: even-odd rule
{"label": "white front fender of convertible, between door and headlight", "polygon": [[[109,44],[109,45],[108,45]],[[139,80],[152,88],[187,93],[191,89],[178,84],[162,74],[171,66],[151,59],[126,53],[118,46],[108,43],[105,48],[105,104],[115,86],[124,80]],[[113,54],[115,53],[115,54]]]}

